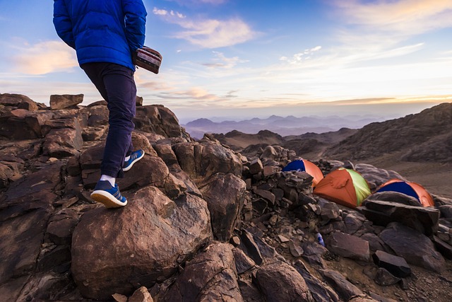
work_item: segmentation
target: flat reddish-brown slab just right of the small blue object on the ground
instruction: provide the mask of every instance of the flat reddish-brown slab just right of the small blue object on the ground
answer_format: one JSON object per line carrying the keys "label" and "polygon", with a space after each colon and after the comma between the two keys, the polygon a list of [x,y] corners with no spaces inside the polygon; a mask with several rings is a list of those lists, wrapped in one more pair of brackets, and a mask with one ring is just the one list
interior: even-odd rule
{"label": "flat reddish-brown slab just right of the small blue object on the ground", "polygon": [[326,246],[337,255],[355,260],[370,260],[369,243],[361,238],[336,232],[328,236]]}

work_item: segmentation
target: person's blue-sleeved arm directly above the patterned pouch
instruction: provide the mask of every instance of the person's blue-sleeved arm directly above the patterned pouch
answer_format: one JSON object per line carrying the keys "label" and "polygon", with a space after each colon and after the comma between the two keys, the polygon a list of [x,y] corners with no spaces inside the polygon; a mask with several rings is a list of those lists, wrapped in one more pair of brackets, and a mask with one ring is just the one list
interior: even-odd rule
{"label": "person's blue-sleeved arm directly above the patterned pouch", "polygon": [[122,9],[125,15],[126,38],[131,54],[143,47],[146,31],[146,8],[142,0],[123,0]]}

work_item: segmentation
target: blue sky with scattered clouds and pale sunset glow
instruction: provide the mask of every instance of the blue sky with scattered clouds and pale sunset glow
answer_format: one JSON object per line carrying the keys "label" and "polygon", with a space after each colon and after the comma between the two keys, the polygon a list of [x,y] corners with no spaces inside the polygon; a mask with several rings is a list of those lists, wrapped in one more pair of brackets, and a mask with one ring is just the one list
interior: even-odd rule
{"label": "blue sky with scattered clouds and pale sunset glow", "polygon": [[[145,105],[179,122],[270,115],[393,118],[452,102],[452,0],[144,0],[160,73]],[[101,100],[51,0],[0,0],[0,93]]]}

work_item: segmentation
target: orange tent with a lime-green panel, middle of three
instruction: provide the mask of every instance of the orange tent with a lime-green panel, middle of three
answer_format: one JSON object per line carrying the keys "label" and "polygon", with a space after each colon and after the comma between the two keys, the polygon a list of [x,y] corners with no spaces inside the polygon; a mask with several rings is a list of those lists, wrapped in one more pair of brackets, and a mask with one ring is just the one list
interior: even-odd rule
{"label": "orange tent with a lime-green panel, middle of three", "polygon": [[313,194],[345,207],[359,207],[371,194],[369,184],[362,175],[345,168],[333,170],[314,188]]}

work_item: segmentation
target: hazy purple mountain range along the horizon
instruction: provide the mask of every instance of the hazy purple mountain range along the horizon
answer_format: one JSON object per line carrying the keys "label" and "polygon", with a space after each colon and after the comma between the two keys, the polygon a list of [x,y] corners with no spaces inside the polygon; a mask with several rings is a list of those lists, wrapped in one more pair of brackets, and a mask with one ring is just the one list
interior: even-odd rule
{"label": "hazy purple mountain range along the horizon", "polygon": [[233,130],[246,134],[256,134],[261,130],[278,133],[281,136],[300,135],[307,132],[324,133],[333,132],[338,129],[347,127],[351,129],[359,129],[371,122],[381,122],[385,120],[383,117],[374,117],[371,115],[359,116],[349,115],[345,117],[338,116],[309,116],[295,117],[293,115],[280,117],[272,115],[266,119],[252,118],[251,120],[213,122],[206,118],[194,120],[181,126],[189,132],[191,137],[201,139],[206,133],[227,133]]}

